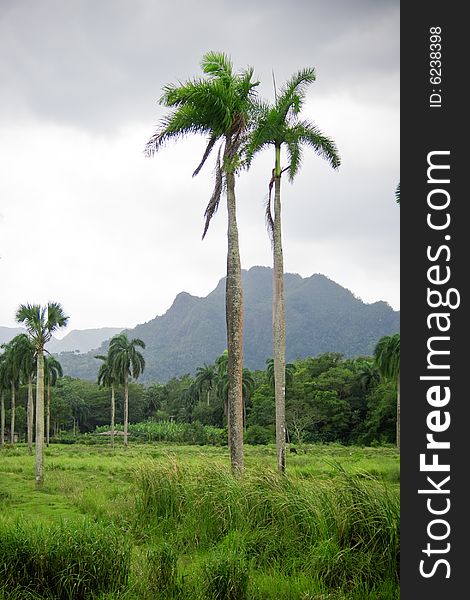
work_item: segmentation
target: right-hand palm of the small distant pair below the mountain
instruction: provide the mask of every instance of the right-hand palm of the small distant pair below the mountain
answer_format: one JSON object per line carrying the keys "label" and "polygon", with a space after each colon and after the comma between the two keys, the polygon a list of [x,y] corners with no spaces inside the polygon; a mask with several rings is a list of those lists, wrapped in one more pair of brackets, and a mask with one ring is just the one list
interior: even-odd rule
{"label": "right-hand palm of the small distant pair below the mountain", "polygon": [[124,447],[127,448],[129,422],[129,376],[137,379],[145,369],[145,360],[137,348],[145,348],[139,338],[129,340],[125,333],[115,335],[109,343],[108,363],[116,380],[124,383]]}

